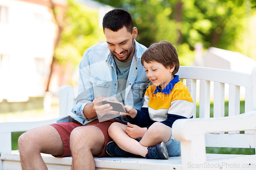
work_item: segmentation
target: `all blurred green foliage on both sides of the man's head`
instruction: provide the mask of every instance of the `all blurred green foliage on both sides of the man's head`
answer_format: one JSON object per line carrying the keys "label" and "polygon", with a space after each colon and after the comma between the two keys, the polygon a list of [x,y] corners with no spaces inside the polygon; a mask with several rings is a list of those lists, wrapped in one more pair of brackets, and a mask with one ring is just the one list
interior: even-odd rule
{"label": "all blurred green foliage on both sides of the man's head", "polygon": [[[177,48],[181,65],[194,61],[194,46],[209,46],[243,53],[243,39],[255,0],[95,0],[128,10],[139,34],[137,41],[150,46],[167,40]],[[61,13],[60,9],[58,9]],[[58,11],[57,10],[57,11]],[[88,47],[104,39],[97,9],[68,0],[61,40],[55,49],[60,63],[77,65]],[[103,40],[104,41],[104,40]]]}

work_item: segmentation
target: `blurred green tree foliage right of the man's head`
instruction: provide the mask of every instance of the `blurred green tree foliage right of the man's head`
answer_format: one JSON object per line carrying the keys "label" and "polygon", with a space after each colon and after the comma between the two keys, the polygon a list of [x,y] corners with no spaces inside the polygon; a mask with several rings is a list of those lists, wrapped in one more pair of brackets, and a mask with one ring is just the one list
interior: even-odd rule
{"label": "blurred green tree foliage right of the man's head", "polygon": [[[160,40],[172,42],[182,65],[194,60],[194,46],[242,52],[241,33],[255,0],[96,0],[128,10],[138,28],[137,40],[150,46]],[[250,6],[248,7],[248,4]]]}

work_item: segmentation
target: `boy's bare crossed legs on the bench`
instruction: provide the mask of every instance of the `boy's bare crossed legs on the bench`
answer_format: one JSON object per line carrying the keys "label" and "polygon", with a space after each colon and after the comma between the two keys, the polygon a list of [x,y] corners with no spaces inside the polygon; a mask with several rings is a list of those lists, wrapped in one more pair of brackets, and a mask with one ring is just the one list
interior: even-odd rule
{"label": "boy's bare crossed legs on the bench", "polygon": [[110,137],[122,150],[143,157],[147,154],[147,147],[155,146],[162,141],[167,142],[171,135],[169,127],[162,123],[154,123],[138,142],[127,135],[126,127],[120,123],[113,123],[109,128]]}

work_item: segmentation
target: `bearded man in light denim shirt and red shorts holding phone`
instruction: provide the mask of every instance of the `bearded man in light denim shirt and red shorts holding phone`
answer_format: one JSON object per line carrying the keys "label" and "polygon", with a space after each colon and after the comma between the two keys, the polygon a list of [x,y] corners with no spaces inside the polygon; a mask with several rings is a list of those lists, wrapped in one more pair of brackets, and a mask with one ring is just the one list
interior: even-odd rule
{"label": "bearded man in light denim shirt and red shorts holding phone", "polygon": [[88,48],[79,65],[77,104],[72,109],[76,116],[20,136],[23,169],[47,169],[40,153],[72,156],[72,169],[95,169],[93,157],[107,156],[105,145],[112,140],[109,126],[126,124],[121,116],[102,122],[113,111],[101,102],[107,97],[136,109],[142,106],[149,82],[140,62],[146,47],[135,40],[138,31],[131,14],[112,10],[105,14],[102,26],[106,42]]}

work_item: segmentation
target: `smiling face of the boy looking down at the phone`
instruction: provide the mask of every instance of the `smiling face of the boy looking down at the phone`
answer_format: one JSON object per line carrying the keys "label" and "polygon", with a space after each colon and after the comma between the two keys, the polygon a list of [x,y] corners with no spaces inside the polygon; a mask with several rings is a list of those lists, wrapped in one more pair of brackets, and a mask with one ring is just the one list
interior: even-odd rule
{"label": "smiling face of the boy looking down at the phone", "polygon": [[156,61],[150,63],[144,61],[143,64],[146,70],[146,77],[150,79],[154,86],[161,86],[161,88],[164,89],[174,78],[172,73],[175,66],[173,68],[165,68],[163,64]]}

